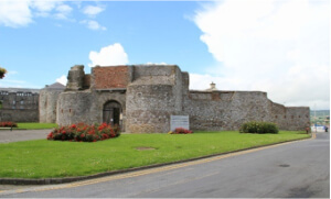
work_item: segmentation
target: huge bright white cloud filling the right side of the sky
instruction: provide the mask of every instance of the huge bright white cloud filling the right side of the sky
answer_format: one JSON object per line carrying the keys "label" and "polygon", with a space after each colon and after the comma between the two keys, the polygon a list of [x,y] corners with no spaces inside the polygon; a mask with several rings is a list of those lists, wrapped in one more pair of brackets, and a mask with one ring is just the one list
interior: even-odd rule
{"label": "huge bright white cloud filling the right side of the sky", "polygon": [[[216,75],[211,77],[218,89],[263,90],[287,106],[329,109],[329,8],[327,0],[225,0],[205,7],[194,22],[220,62],[206,73]],[[202,77],[193,75],[191,82]]]}

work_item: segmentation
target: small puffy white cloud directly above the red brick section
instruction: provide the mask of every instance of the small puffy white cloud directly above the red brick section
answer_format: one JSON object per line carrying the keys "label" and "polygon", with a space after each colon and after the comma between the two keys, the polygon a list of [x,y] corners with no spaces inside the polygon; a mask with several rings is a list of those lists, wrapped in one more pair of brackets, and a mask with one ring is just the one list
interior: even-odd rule
{"label": "small puffy white cloud directly above the red brick section", "polygon": [[88,64],[89,67],[94,67],[96,65],[126,65],[129,63],[128,55],[119,43],[103,47],[100,52],[89,52],[88,57],[92,62],[92,64]]}

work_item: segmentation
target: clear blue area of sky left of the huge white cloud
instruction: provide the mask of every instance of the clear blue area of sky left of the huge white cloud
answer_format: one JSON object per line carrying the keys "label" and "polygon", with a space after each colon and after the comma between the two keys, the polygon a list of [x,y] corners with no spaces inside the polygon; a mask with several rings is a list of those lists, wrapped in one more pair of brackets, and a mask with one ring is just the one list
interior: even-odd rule
{"label": "clear blue area of sky left of the huge white cloud", "polygon": [[[1,66],[14,71],[1,85],[17,86],[6,82],[15,79],[24,81],[22,86],[41,88],[75,64],[84,64],[89,73],[89,52],[115,43],[128,54],[127,64],[168,63],[201,73],[205,64],[213,63],[199,40],[201,31],[190,20],[199,8],[196,2],[64,3],[73,9],[67,19],[34,16],[26,25],[0,26]],[[89,16],[84,13],[88,5],[104,11]],[[88,27],[84,21],[95,21],[105,30]],[[199,58],[192,58],[196,55]]]}

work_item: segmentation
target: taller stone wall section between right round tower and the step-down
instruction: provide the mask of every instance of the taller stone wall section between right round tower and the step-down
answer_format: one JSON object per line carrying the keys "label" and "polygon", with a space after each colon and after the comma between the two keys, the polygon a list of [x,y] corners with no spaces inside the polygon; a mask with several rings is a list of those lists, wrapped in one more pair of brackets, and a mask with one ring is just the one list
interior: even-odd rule
{"label": "taller stone wall section between right round tower and the step-down", "polygon": [[246,121],[268,121],[265,92],[190,92],[184,112],[193,130],[237,130]]}

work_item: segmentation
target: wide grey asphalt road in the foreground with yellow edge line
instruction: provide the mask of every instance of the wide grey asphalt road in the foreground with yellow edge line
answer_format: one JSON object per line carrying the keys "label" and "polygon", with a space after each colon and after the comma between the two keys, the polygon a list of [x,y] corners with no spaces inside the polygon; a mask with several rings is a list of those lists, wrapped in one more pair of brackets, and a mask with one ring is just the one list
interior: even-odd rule
{"label": "wide grey asphalt road in the foreground with yellow edge line", "polygon": [[186,165],[0,191],[0,197],[329,198],[330,135]]}

